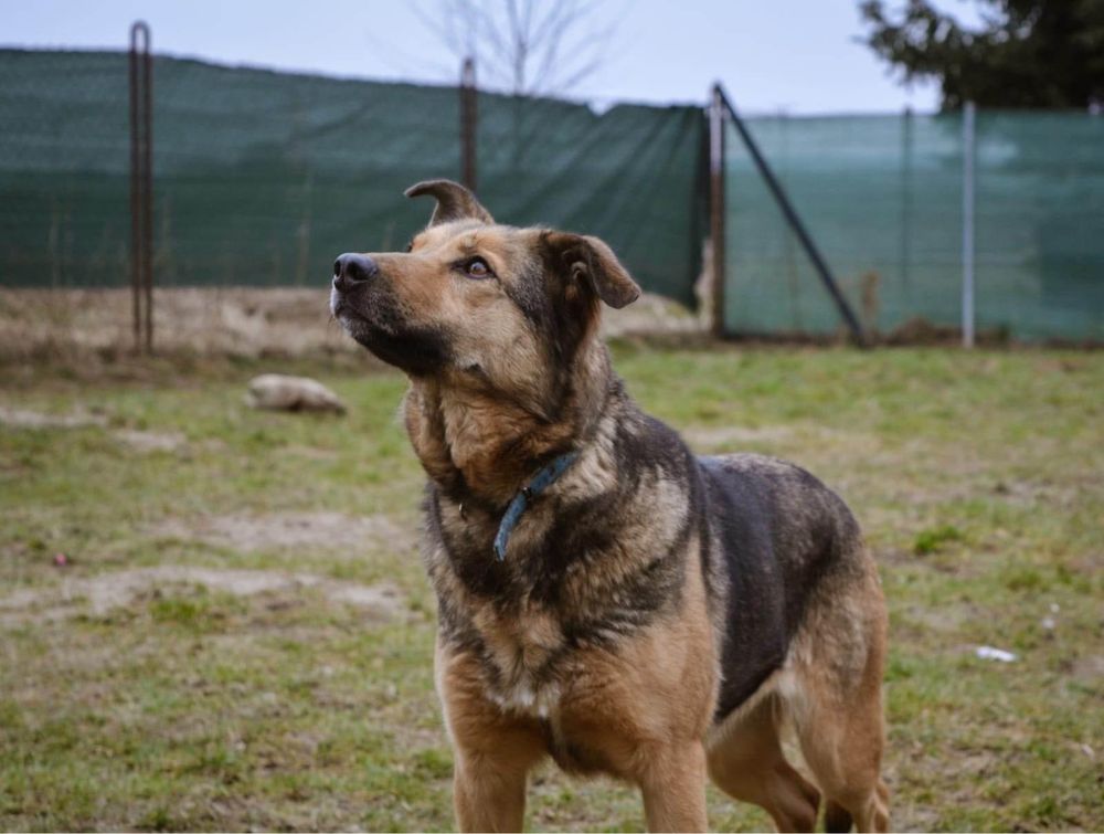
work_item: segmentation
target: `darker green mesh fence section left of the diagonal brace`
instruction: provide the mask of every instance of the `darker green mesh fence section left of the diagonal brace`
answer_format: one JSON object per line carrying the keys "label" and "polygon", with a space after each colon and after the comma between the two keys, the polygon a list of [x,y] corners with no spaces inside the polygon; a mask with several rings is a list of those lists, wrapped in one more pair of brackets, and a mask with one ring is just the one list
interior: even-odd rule
{"label": "darker green mesh fence section left of the diagonal brace", "polygon": [[[478,107],[497,218],[599,235],[645,288],[693,303],[700,108]],[[128,171],[126,54],[0,50],[0,284],[126,284]],[[407,186],[459,172],[455,88],[155,60],[159,286],[325,283],[337,254],[402,247],[425,224]]]}

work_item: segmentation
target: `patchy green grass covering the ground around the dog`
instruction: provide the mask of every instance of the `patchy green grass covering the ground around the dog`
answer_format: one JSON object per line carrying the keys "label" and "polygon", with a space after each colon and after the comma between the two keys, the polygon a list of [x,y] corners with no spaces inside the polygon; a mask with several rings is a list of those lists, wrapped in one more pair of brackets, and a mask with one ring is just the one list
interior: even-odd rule
{"label": "patchy green grass covering the ground around the dog", "polygon": [[[856,509],[891,608],[898,827],[1104,827],[1104,355],[615,352],[634,394],[701,451],[795,460]],[[0,404],[105,418],[0,425],[0,827],[452,827],[435,609],[413,537],[422,477],[396,419],[404,382],[300,361],[348,416],[246,409],[244,382],[273,369],[0,370]],[[185,443],[138,451],[119,429]],[[312,511],[412,535],[350,551],[325,537],[288,549],[179,531]],[[82,602],[95,577],[156,566],[384,582],[401,610],[374,616],[314,587],[243,595],[190,582]],[[1018,661],[979,659],[981,644]],[[643,825],[630,789],[552,769],[533,780],[528,820]],[[713,789],[710,822],[768,824]]]}

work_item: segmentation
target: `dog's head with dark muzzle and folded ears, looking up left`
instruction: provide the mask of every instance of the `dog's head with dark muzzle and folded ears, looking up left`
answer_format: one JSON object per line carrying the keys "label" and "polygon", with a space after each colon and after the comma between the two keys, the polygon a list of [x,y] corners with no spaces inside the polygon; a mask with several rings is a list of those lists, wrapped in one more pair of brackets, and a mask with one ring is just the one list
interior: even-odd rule
{"label": "dog's head with dark muzzle and folded ears, looking up left", "polygon": [[376,357],[414,378],[466,381],[534,410],[596,338],[599,306],[640,294],[596,237],[500,225],[463,186],[420,182],[437,200],[405,252],[333,264],[330,309]]}

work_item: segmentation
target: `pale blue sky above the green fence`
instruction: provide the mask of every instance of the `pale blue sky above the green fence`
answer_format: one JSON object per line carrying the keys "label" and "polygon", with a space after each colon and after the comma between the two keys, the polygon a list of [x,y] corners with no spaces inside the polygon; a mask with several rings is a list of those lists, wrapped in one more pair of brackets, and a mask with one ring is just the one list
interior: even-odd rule
{"label": "pale blue sky above the green fence", "polygon": [[[0,45],[125,49],[146,20],[153,50],[342,77],[453,83],[456,59],[426,22],[444,0],[0,0]],[[937,3],[966,22],[968,0]],[[597,103],[703,102],[720,81],[745,113],[933,110],[867,46],[858,0],[602,0],[598,67],[571,91]]]}

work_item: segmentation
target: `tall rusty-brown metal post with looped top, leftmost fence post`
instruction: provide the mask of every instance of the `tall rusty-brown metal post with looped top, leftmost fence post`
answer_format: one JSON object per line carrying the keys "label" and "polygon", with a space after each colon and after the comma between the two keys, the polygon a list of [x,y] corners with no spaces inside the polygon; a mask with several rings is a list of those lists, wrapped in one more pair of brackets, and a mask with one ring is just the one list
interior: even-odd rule
{"label": "tall rusty-brown metal post with looped top, leftmost fence post", "polygon": [[130,27],[130,289],[135,351],[153,350],[153,80],[150,32]]}

